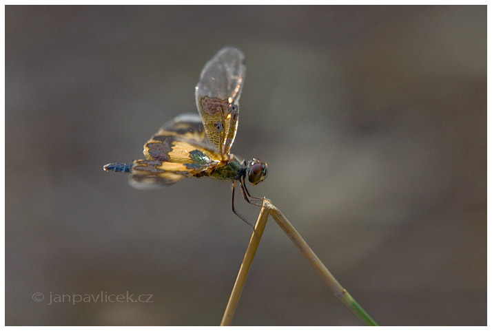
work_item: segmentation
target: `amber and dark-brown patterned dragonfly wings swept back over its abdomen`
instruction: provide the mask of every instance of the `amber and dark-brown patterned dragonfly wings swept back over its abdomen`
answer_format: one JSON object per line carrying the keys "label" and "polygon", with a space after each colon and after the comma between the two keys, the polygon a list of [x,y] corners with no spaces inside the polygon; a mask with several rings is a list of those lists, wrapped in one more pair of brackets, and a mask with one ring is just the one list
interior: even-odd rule
{"label": "amber and dark-brown patterned dragonfly wings swept back over its abdomen", "polygon": [[183,114],[167,122],[143,147],[145,160],[132,164],[130,184],[156,189],[183,178],[208,175],[224,160],[207,144],[201,118]]}

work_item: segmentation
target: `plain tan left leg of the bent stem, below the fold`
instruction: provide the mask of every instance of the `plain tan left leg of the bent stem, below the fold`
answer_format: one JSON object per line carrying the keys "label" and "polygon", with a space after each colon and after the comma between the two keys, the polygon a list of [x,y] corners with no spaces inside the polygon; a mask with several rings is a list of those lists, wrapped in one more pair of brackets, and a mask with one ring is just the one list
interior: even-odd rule
{"label": "plain tan left leg of the bent stem, below the fold", "polygon": [[221,326],[231,325],[232,317],[234,317],[234,312],[236,311],[236,306],[238,306],[239,297],[241,292],[243,292],[247,274],[249,273],[249,267],[251,267],[251,264],[253,263],[256,249],[260,244],[263,230],[265,230],[265,226],[267,225],[269,210],[265,207],[265,204],[267,204],[267,200],[263,200],[263,207],[261,208],[260,215],[258,215],[258,220],[256,221],[256,226],[254,226],[254,232],[251,239],[249,239],[249,245],[247,246],[243,264],[241,264],[241,267],[239,268],[238,277],[236,278],[236,283],[234,284],[234,288],[232,288],[229,302],[225,308]]}

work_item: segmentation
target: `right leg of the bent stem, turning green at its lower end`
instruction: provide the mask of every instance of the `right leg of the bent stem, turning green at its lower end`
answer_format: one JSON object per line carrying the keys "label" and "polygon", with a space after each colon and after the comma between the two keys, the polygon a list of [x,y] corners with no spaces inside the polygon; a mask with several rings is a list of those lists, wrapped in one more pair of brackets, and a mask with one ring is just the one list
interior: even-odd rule
{"label": "right leg of the bent stem, turning green at its lower end", "polygon": [[303,253],[304,257],[309,261],[311,266],[318,272],[321,278],[325,281],[325,283],[330,288],[331,292],[334,293],[335,297],[337,297],[342,303],[345,304],[353,314],[362,320],[366,325],[378,325],[365,310],[360,307],[356,300],[351,297],[349,292],[342,288],[342,286],[338,283],[338,281],[331,275],[327,267],[320,261],[320,259],[314,254],[313,250],[309,248],[303,237],[296,231],[294,226],[290,224],[290,222],[285,218],[285,216],[274,206],[271,202],[266,201],[263,204],[263,208],[265,205],[270,211],[271,217],[277,222],[277,224],[282,228],[282,230],[287,234],[287,237],[294,242],[297,248],[299,248],[300,253]]}

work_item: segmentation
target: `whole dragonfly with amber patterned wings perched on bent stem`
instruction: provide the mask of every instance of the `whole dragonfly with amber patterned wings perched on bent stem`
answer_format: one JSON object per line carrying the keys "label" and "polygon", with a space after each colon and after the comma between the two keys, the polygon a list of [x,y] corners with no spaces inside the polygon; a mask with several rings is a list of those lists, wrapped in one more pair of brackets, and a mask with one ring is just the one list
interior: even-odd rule
{"label": "whole dragonfly with amber patterned wings perched on bent stem", "polygon": [[156,189],[184,178],[210,177],[232,182],[232,211],[236,183],[249,204],[261,206],[261,197],[247,190],[267,177],[267,163],[245,161],[230,153],[239,119],[239,98],[246,74],[245,55],[236,47],[219,50],[203,67],[195,87],[198,114],[181,114],[166,122],[143,147],[145,159],[106,164],[105,171],[130,173],[136,189]]}

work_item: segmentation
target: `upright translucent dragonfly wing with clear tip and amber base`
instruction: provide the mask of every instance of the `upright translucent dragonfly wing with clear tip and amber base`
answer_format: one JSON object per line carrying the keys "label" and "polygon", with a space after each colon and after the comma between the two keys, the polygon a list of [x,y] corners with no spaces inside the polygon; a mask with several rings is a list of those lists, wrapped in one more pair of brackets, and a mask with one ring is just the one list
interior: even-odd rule
{"label": "upright translucent dragonfly wing with clear tip and amber base", "polygon": [[229,153],[236,137],[245,74],[243,52],[223,47],[205,64],[195,87],[196,107],[208,141],[220,153]]}

